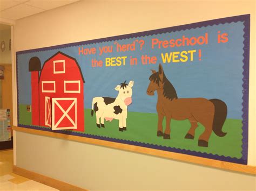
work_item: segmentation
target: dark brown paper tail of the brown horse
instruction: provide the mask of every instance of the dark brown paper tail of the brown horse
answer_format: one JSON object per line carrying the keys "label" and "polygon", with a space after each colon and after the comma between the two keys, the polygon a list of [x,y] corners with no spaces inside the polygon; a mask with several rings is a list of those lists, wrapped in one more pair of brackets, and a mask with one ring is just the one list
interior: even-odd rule
{"label": "dark brown paper tail of the brown horse", "polygon": [[209,100],[214,104],[214,118],[213,118],[213,132],[219,136],[224,137],[227,133],[222,131],[223,124],[227,117],[227,105],[225,102],[218,100],[218,99],[212,99]]}

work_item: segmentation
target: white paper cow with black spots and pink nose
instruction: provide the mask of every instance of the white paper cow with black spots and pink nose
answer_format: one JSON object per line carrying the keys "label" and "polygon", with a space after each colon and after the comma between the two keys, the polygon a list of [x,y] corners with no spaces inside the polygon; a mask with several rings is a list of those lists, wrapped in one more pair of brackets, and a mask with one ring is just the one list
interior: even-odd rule
{"label": "white paper cow with black spots and pink nose", "polygon": [[[104,119],[112,121],[119,120],[119,131],[126,131],[127,107],[132,103],[132,86],[133,81],[129,84],[121,83],[116,88],[118,96],[111,97],[94,97],[92,100],[91,116],[93,116],[93,108],[96,114],[96,125],[98,128],[105,128]],[[100,122],[99,122],[100,121]]]}

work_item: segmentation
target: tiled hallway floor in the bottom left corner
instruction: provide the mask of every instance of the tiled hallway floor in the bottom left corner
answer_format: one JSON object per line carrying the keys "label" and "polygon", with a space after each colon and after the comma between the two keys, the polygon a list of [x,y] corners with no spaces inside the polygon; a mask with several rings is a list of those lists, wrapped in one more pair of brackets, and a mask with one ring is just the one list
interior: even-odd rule
{"label": "tiled hallway floor in the bottom left corner", "polygon": [[12,173],[12,150],[0,151],[0,190],[57,190]]}

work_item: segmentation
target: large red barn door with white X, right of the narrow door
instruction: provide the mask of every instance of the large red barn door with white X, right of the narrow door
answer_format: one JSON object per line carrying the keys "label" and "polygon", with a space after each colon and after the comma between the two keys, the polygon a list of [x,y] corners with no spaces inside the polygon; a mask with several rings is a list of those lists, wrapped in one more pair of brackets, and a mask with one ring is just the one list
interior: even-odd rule
{"label": "large red barn door with white X, right of the narrow door", "polygon": [[52,130],[77,129],[77,98],[52,98]]}

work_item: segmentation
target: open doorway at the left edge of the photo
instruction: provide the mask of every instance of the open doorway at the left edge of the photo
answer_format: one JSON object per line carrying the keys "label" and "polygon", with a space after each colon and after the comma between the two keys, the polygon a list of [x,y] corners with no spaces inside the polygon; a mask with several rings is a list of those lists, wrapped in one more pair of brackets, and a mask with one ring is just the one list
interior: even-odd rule
{"label": "open doorway at the left edge of the photo", "polygon": [[0,24],[0,150],[12,143],[12,53],[11,26]]}

